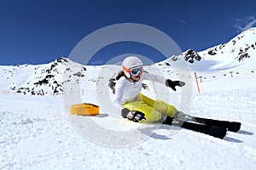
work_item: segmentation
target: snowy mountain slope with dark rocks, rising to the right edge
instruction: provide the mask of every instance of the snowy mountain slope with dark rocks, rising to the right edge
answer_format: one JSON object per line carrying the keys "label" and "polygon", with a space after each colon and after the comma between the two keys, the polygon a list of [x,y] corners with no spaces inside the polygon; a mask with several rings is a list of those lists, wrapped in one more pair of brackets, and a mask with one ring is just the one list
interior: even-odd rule
{"label": "snowy mountain slope with dark rocks, rising to the right edge", "polygon": [[256,28],[232,38],[229,42],[219,44],[204,51],[188,49],[180,55],[172,56],[167,61],[184,59],[195,71],[219,71],[227,69],[255,68],[256,62]]}

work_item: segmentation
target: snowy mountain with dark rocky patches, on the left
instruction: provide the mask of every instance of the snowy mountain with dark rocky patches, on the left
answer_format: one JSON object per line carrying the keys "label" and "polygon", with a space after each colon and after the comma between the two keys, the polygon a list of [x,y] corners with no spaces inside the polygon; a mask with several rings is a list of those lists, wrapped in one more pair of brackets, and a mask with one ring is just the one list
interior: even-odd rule
{"label": "snowy mountain with dark rocky patches, on the left", "polygon": [[63,74],[69,71],[67,65],[80,67],[79,71],[73,72],[73,77],[84,77],[84,65],[65,58],[55,59],[45,65],[0,66],[0,89],[32,95],[62,94]]}

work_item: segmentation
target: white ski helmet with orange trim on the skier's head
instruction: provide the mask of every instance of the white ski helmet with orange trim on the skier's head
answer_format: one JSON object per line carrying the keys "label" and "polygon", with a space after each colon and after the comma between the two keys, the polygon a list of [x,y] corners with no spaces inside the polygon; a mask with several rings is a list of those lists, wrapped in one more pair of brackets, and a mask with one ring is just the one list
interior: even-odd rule
{"label": "white ski helmet with orange trim on the skier's head", "polygon": [[129,56],[126,57],[123,61],[123,71],[125,72],[125,76],[130,78],[131,77],[131,69],[136,68],[138,66],[143,67],[143,61],[136,56]]}

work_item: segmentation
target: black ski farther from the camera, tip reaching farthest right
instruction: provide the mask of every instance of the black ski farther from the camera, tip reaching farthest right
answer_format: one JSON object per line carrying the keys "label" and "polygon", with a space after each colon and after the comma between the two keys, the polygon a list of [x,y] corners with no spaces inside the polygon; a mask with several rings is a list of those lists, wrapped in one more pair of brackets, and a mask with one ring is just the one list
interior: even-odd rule
{"label": "black ski farther from the camera, tip reaching farthest right", "polygon": [[203,117],[196,117],[192,116],[193,122],[199,122],[209,126],[216,126],[216,127],[225,127],[231,132],[238,132],[241,128],[241,122],[229,122],[229,121],[220,121],[215,119],[207,119]]}

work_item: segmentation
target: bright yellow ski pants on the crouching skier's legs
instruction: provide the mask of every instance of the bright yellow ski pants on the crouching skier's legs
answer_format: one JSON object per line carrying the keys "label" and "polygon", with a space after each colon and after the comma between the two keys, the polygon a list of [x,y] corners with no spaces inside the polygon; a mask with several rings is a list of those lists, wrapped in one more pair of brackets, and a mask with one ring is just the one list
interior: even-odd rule
{"label": "bright yellow ski pants on the crouching skier's legs", "polygon": [[173,105],[169,105],[160,99],[150,99],[143,94],[138,94],[134,101],[123,105],[130,111],[141,111],[145,114],[148,122],[157,122],[162,114],[175,117],[177,109]]}

